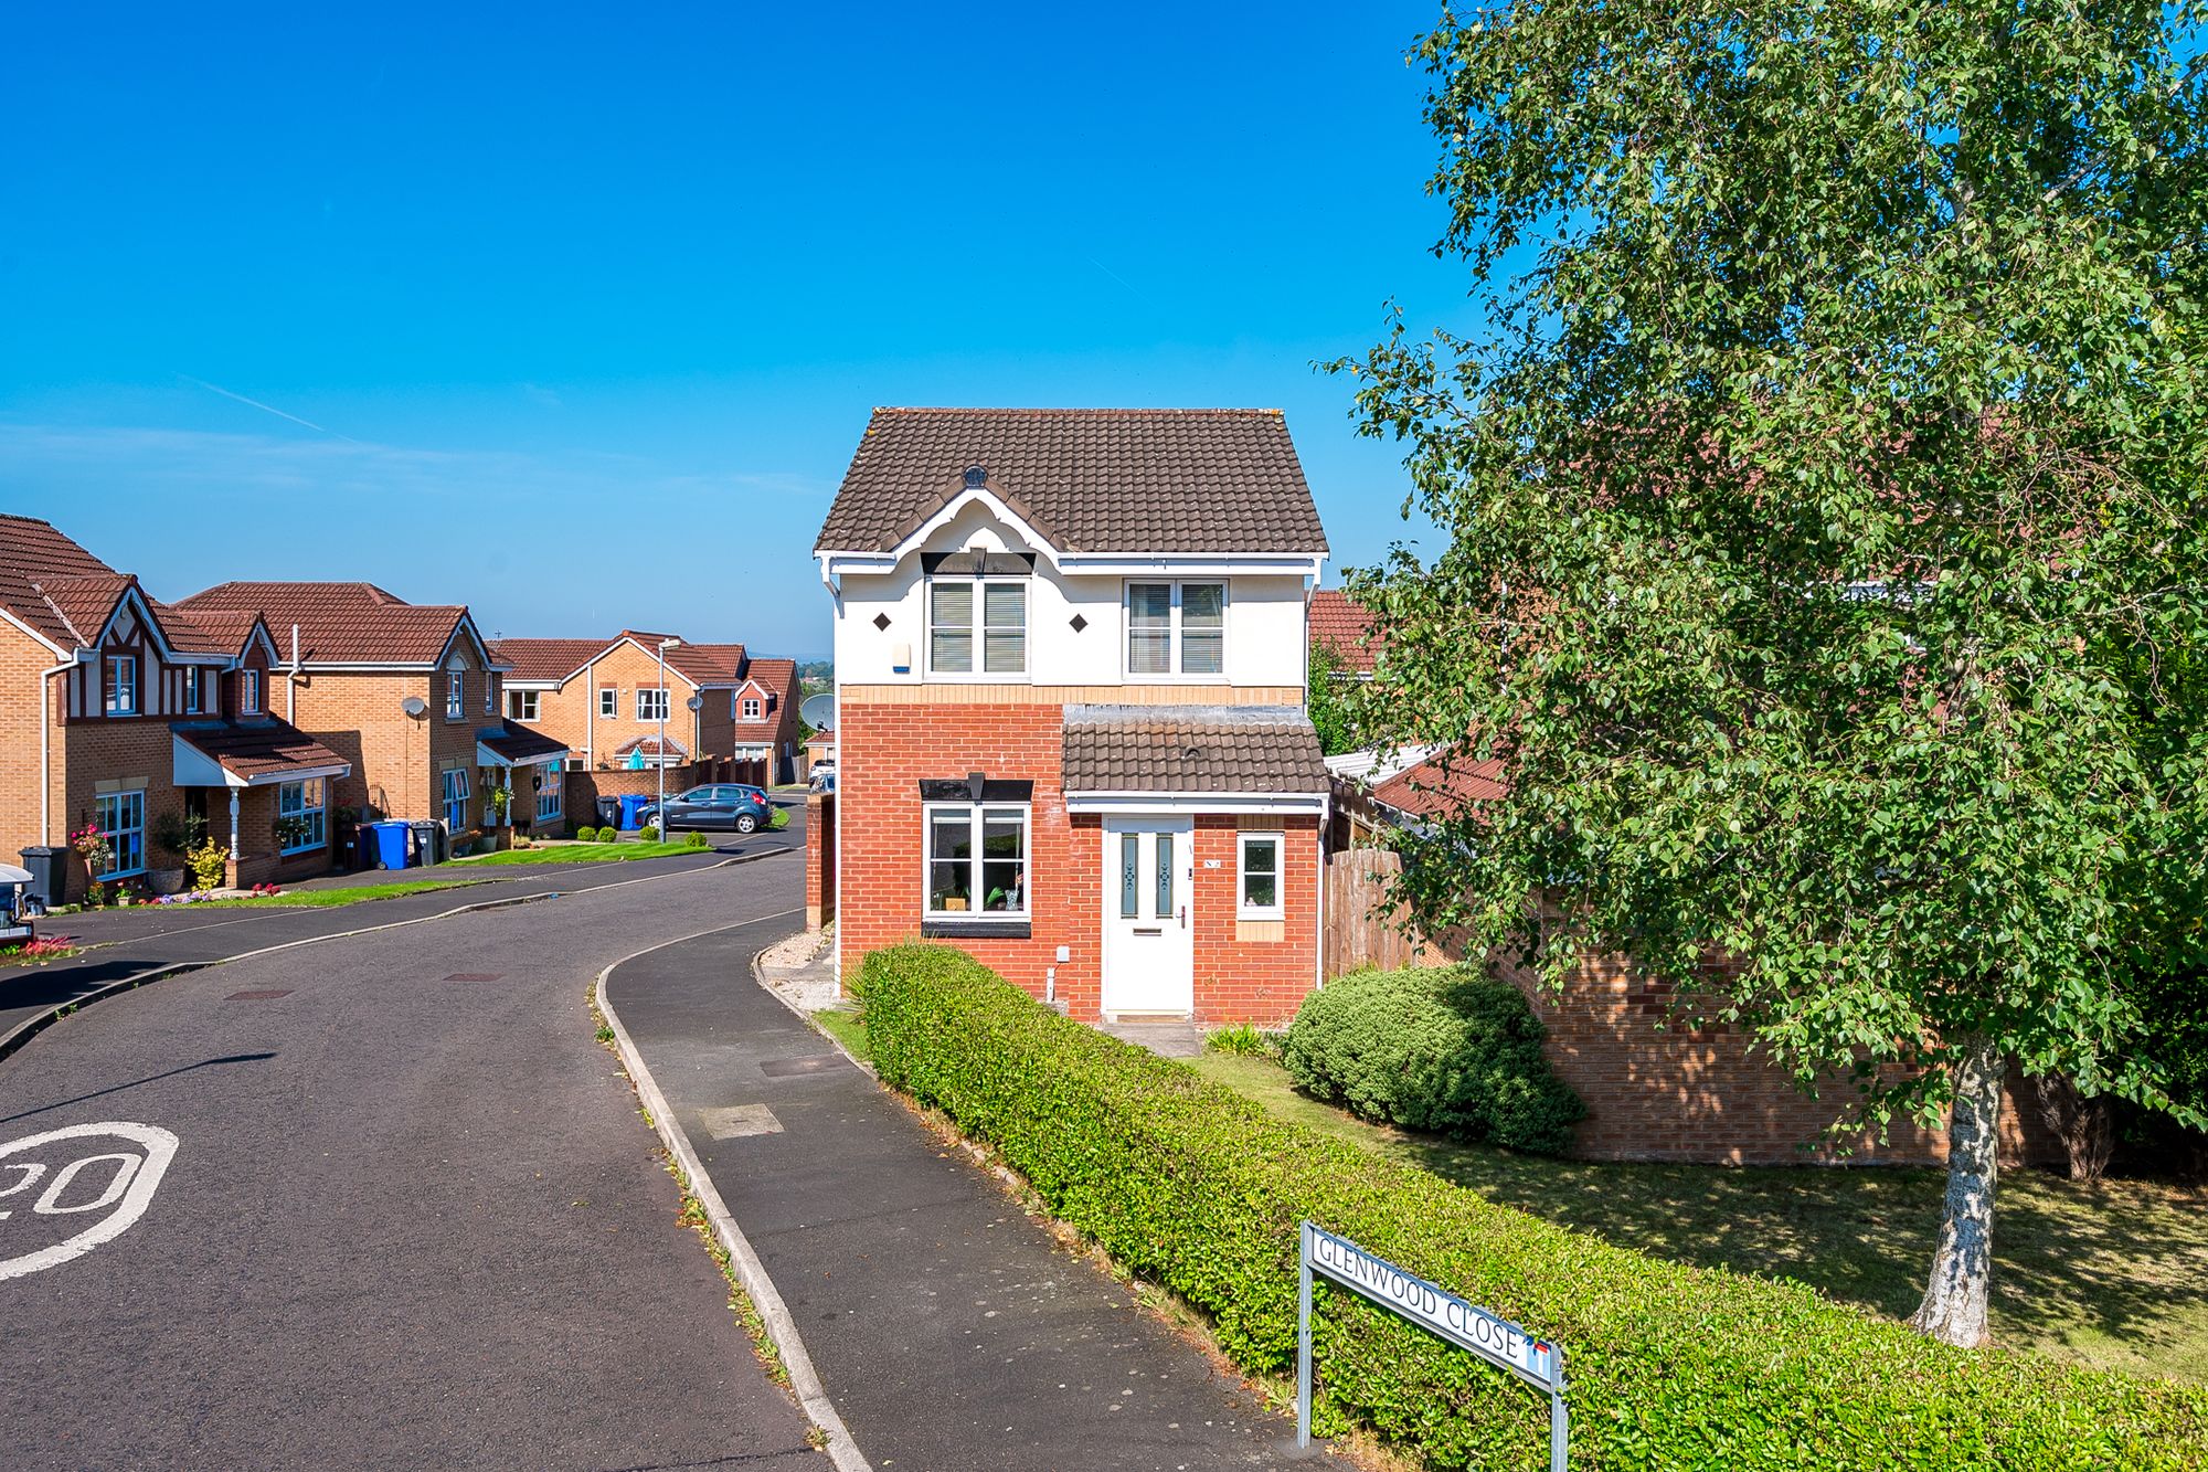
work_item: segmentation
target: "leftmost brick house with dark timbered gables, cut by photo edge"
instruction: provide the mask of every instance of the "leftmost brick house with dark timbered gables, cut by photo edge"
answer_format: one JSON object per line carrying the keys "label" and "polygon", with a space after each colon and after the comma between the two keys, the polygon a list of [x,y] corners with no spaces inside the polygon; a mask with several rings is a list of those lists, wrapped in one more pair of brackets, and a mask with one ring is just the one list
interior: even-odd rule
{"label": "leftmost brick house with dark timbered gables, cut by photo edge", "polygon": [[71,860],[53,902],[86,880],[179,886],[190,831],[227,849],[232,884],[329,869],[327,793],[351,763],[272,712],[274,667],[254,610],[159,603],[51,524],[0,515],[7,853],[106,835],[106,869]]}

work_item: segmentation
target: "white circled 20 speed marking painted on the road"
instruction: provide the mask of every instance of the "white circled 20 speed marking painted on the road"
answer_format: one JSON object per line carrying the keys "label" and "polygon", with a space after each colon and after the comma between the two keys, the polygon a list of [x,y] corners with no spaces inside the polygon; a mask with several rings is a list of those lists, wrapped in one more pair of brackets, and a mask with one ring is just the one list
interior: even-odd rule
{"label": "white circled 20 speed marking painted on the road", "polygon": [[[115,1145],[135,1149],[113,1149]],[[60,1266],[130,1231],[146,1216],[174,1158],[177,1136],[159,1125],[128,1121],[71,1125],[0,1145],[0,1251],[29,1236],[24,1229],[44,1236],[49,1222],[42,1218],[68,1222],[106,1211],[71,1238],[0,1258],[0,1280]],[[33,1196],[40,1185],[44,1189]]]}

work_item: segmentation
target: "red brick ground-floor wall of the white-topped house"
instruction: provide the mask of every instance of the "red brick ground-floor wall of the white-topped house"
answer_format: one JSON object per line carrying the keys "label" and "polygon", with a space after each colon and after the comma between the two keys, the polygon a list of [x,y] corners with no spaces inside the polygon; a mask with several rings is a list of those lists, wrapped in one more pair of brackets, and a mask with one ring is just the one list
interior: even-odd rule
{"label": "red brick ground-floor wall of the white-topped house", "polygon": [[[846,705],[837,723],[839,964],[857,968],[870,950],[923,930],[923,780],[969,771],[1029,780],[1029,933],[952,944],[1036,997],[1053,995],[1071,1017],[1100,1019],[1104,820],[1066,813],[1062,705]],[[1283,1023],[1318,977],[1318,820],[1261,824],[1289,835],[1276,939],[1270,930],[1243,937],[1236,922],[1239,827],[1234,816],[1197,818],[1195,1021],[1203,1026]]]}

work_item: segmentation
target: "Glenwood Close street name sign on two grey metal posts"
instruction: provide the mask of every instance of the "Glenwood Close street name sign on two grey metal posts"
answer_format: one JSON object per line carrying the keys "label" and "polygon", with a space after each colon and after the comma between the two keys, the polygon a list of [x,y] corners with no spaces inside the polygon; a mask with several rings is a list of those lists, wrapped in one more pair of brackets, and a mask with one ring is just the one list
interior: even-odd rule
{"label": "Glenwood Close street name sign on two grey metal posts", "polygon": [[1548,1395],[1548,1468],[1565,1472],[1572,1421],[1563,1408],[1563,1348],[1475,1308],[1455,1293],[1404,1273],[1384,1258],[1305,1222],[1296,1273],[1296,1445],[1312,1445],[1312,1273],[1389,1308],[1420,1328],[1468,1348]]}

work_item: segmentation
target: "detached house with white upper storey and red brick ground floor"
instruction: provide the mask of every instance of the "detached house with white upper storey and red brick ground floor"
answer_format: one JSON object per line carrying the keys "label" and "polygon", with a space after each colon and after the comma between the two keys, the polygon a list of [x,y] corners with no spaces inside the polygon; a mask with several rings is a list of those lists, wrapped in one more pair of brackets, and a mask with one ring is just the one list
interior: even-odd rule
{"label": "detached house with white upper storey and red brick ground floor", "polygon": [[1327,539],[1278,411],[879,409],[815,557],[839,966],[927,935],[1080,1019],[1294,1012]]}

